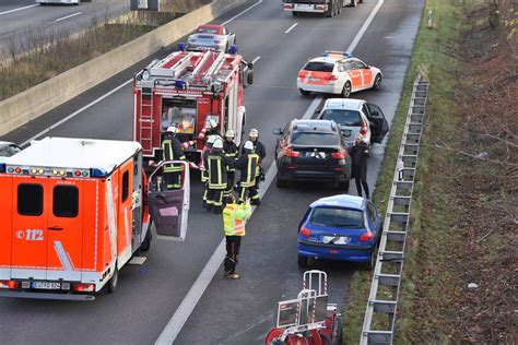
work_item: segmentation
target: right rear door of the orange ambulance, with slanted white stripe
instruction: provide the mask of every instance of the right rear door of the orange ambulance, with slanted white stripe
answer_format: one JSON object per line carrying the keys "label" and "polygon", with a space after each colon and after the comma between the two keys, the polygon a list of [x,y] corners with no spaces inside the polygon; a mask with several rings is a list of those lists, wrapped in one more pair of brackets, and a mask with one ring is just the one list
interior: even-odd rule
{"label": "right rear door of the orange ambulance, with slanted white stripe", "polygon": [[[47,279],[81,281],[83,243],[81,178],[49,178],[47,186]],[[95,216],[92,213],[90,216]]]}

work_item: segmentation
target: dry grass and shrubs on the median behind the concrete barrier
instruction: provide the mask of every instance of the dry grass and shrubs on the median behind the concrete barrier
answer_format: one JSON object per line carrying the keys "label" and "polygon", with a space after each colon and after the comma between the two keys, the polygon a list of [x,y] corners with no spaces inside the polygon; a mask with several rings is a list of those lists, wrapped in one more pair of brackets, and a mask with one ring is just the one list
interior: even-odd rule
{"label": "dry grass and shrubs on the median behind the concrete barrier", "polygon": [[[210,0],[177,0],[167,12],[134,11],[117,19],[94,17],[79,34],[31,31],[11,41],[0,57],[0,100],[113,50]],[[5,62],[8,61],[8,62]]]}

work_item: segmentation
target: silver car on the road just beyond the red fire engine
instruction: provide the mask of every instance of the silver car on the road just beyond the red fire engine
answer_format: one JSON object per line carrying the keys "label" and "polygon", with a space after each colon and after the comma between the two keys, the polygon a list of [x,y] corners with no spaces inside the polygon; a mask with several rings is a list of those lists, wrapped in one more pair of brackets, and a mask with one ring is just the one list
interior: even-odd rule
{"label": "silver car on the road just beyond the red fire engine", "polygon": [[228,33],[223,25],[200,25],[196,33],[187,40],[188,50],[201,50],[211,48],[219,51],[228,51],[236,44],[236,34]]}

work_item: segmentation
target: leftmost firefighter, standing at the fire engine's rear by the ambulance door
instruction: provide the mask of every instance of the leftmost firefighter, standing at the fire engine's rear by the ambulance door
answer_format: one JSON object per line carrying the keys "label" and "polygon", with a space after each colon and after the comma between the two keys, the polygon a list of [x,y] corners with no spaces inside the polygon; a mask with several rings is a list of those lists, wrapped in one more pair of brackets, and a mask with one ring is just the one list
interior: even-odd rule
{"label": "leftmost firefighter, standing at the fire engine's rear by the ambulance door", "polygon": [[[167,128],[167,133],[162,141],[162,159],[163,160],[186,160],[181,143],[176,138],[178,129],[174,126]],[[164,165],[165,188],[168,190],[181,188],[181,175],[184,174],[184,165],[166,164]]]}

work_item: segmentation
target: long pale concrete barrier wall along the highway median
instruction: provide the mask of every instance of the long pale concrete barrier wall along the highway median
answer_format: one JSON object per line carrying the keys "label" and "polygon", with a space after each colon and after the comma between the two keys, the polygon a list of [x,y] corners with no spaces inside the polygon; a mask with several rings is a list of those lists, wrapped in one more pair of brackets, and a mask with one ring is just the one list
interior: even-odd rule
{"label": "long pale concrete barrier wall along the highway median", "polygon": [[[0,135],[38,118],[162,47],[173,44],[198,25],[211,22],[244,2],[245,0],[214,0],[123,46],[0,102]],[[128,95],[128,99],[130,98],[131,95]]]}

